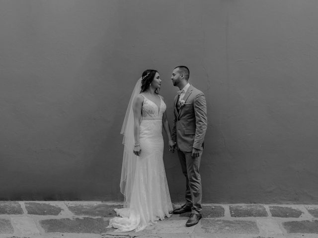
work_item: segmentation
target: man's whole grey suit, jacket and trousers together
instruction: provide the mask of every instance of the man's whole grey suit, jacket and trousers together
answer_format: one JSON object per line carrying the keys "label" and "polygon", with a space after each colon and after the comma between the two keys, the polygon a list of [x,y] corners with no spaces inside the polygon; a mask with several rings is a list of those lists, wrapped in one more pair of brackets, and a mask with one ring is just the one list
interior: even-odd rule
{"label": "man's whole grey suit, jacket and trousers together", "polygon": [[[177,143],[182,173],[186,177],[186,205],[192,213],[202,210],[201,177],[199,173],[203,141],[207,129],[207,109],[204,94],[190,85],[183,102],[178,105],[179,95],[174,98],[172,138]],[[192,149],[201,150],[199,157],[192,158]]]}

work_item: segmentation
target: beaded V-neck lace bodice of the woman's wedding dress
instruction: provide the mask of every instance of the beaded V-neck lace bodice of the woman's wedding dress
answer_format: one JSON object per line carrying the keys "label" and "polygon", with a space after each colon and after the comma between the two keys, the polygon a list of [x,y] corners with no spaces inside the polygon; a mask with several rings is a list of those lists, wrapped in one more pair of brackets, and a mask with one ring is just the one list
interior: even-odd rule
{"label": "beaded V-neck lace bodice of the woman's wedding dress", "polygon": [[[142,95],[142,94],[141,94]],[[153,101],[146,98],[144,95],[144,103],[143,103],[143,120],[160,120],[162,119],[162,115],[166,109],[166,105],[163,102],[162,98],[160,98],[160,106],[158,108],[157,104]]]}

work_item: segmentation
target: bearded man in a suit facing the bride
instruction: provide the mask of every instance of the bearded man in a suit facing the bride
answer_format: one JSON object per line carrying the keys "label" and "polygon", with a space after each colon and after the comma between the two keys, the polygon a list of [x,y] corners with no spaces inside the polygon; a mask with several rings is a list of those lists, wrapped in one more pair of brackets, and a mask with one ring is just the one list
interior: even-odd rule
{"label": "bearded man in a suit facing the bride", "polygon": [[180,89],[179,94],[174,98],[172,138],[176,141],[182,173],[186,178],[186,202],[172,213],[181,214],[191,211],[186,223],[187,227],[196,225],[202,218],[199,168],[207,129],[205,96],[188,83],[189,75],[190,72],[186,66],[177,66],[171,76],[173,86]]}

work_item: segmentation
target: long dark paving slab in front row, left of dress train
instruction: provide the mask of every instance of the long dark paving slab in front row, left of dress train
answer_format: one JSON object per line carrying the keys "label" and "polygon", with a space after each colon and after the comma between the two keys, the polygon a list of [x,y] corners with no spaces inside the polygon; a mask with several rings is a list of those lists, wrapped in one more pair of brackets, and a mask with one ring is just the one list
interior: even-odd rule
{"label": "long dark paving slab in front row, left of dress train", "polygon": [[76,219],[48,219],[41,220],[41,227],[46,233],[93,233],[101,234],[108,231],[108,221],[102,218],[76,218]]}

